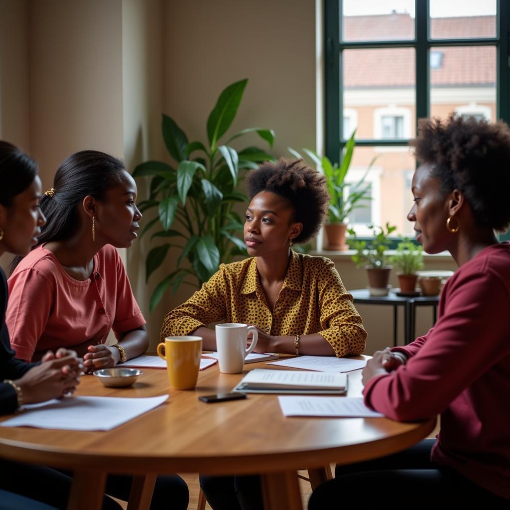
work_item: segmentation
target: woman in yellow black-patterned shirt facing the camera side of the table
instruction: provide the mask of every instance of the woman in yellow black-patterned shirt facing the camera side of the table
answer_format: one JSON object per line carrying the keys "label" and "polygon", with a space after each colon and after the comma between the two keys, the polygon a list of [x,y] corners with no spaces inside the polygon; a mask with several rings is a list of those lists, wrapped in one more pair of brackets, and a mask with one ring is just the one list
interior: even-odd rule
{"label": "woman in yellow black-patterned shirt facing the camera side of the table", "polygon": [[258,352],[361,354],[366,331],[333,262],[296,253],[319,231],[329,195],[324,176],[302,160],[266,162],[247,176],[244,240],[252,258],[222,264],[188,301],[165,317],[161,338],[198,335],[216,350],[212,322],[259,330]]}

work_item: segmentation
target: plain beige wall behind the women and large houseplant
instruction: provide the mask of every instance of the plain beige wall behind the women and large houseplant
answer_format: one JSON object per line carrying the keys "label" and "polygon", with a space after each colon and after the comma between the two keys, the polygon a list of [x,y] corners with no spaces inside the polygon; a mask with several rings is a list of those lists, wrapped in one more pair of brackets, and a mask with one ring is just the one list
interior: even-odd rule
{"label": "plain beige wall behind the women and large houseplant", "polygon": [[[219,92],[242,78],[249,82],[232,132],[274,129],[275,156],[288,154],[289,145],[315,146],[312,0],[0,0],[0,8],[0,129],[39,161],[44,187],[64,157],[84,148],[123,157],[130,170],[165,158],[162,112],[190,139],[205,141]],[[256,137],[248,143],[263,145]],[[144,187],[140,182],[140,199]],[[172,266],[168,261],[146,286],[144,261],[152,246],[149,236],[135,243],[127,267],[154,349],[164,313],[192,289],[182,287],[148,313],[150,292]],[[347,288],[365,287],[364,271],[350,259],[335,262]],[[390,309],[365,305],[360,312],[367,352],[391,342]],[[417,332],[428,322],[424,317]]]}

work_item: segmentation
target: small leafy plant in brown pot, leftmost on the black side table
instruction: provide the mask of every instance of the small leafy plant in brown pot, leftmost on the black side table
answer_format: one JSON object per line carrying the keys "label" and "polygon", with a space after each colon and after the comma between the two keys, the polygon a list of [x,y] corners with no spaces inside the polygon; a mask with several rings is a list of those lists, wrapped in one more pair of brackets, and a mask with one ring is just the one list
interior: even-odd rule
{"label": "small leafy plant in brown pot, leftmost on the black side table", "polygon": [[[397,227],[386,223],[384,227],[370,225],[373,237],[367,240],[353,239],[351,248],[356,250],[352,261],[357,267],[365,267],[368,274],[369,291],[371,295],[383,296],[388,294],[388,282],[390,279],[391,266],[388,264],[387,251],[391,240],[388,236]],[[356,233],[349,228],[349,234],[355,238]]]}

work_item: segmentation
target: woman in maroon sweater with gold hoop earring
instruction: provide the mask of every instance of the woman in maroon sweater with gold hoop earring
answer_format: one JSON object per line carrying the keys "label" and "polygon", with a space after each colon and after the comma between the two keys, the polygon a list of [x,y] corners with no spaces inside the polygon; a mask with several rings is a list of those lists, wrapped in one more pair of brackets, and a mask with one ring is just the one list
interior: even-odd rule
{"label": "woman in maroon sweater with gold hoop earring", "polygon": [[363,394],[394,420],[441,414],[441,430],[404,452],[337,467],[311,510],[351,497],[367,507],[510,507],[510,244],[494,234],[510,224],[510,133],[502,122],[452,115],[422,119],[412,145],[421,164],[407,218],[427,253],[448,250],[459,269],[424,337],[375,352]]}

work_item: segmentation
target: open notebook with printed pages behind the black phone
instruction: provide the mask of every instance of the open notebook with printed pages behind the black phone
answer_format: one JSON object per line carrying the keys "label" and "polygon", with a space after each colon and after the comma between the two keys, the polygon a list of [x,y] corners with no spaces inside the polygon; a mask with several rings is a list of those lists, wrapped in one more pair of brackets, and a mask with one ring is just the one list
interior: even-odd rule
{"label": "open notebook with printed pages behind the black phone", "polygon": [[255,369],[248,372],[234,389],[240,393],[343,394],[347,375],[298,372],[295,370]]}

